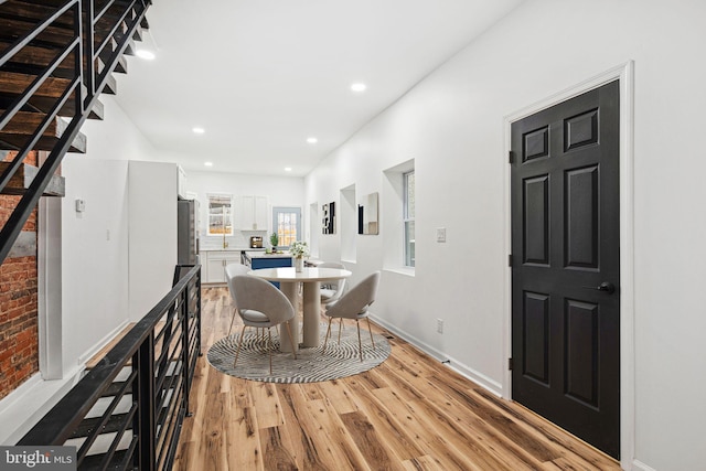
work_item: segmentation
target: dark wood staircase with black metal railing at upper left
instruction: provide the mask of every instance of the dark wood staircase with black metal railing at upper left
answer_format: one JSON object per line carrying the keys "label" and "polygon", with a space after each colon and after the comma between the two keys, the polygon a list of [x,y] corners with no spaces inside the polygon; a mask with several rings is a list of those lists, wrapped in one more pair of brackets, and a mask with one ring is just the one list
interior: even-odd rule
{"label": "dark wood staircase with black metal railing at upper left", "polygon": [[[85,152],[81,127],[103,119],[100,94],[117,92],[149,0],[0,0],[0,194],[21,195],[0,229],[0,264],[41,196],[63,196],[66,152]],[[46,157],[24,163],[32,150]]]}

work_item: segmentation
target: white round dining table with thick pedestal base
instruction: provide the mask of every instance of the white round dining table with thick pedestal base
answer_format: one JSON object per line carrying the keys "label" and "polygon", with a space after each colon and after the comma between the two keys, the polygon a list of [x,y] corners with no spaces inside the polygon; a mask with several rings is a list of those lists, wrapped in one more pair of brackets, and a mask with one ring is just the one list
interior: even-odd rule
{"label": "white round dining table with thick pedestal base", "polygon": [[[340,268],[304,267],[297,271],[295,267],[260,268],[248,271],[248,275],[263,278],[268,281],[278,281],[279,289],[289,299],[295,312],[299,312],[299,283],[303,285],[303,338],[302,346],[319,346],[319,317],[321,315],[321,281],[335,281],[347,278],[351,271]],[[297,318],[289,321],[291,335],[299,339],[299,322]],[[299,350],[299,345],[291,345],[288,335],[282,335],[280,330],[280,347],[282,352]],[[295,341],[297,342],[297,341]]]}

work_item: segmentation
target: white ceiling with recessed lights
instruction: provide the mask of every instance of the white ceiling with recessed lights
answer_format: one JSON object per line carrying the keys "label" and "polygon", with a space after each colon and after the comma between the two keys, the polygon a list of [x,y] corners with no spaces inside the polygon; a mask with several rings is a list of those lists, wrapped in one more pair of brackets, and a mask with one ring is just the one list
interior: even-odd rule
{"label": "white ceiling with recessed lights", "polygon": [[304,175],[521,1],[156,0],[117,100],[188,170]]}

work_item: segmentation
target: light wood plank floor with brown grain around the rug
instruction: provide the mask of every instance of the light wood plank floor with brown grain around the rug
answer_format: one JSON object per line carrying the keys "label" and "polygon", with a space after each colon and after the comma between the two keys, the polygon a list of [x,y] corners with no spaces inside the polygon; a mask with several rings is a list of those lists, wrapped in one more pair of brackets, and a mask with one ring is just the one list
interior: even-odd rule
{"label": "light wood plank floor with brown grain around the rug", "polygon": [[399,339],[389,340],[385,363],[361,375],[312,384],[256,383],[226,376],[206,361],[208,346],[228,330],[225,288],[204,289],[202,321],[194,414],[184,420],[174,469],[620,469]]}

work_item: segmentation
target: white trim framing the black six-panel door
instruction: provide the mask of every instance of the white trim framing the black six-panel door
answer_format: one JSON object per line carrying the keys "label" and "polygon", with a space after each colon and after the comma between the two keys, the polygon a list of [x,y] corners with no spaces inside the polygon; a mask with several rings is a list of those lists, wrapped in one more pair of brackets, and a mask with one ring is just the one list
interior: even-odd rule
{"label": "white trim framing the black six-panel door", "polygon": [[[620,461],[632,469],[635,442],[635,344],[634,344],[634,190],[633,94],[634,63],[627,62],[504,118],[505,153],[510,152],[512,122],[534,115],[614,79],[620,81]],[[504,159],[507,162],[506,159]],[[505,163],[505,251],[512,253],[510,164]],[[505,272],[503,352],[512,354],[512,272]],[[504,363],[506,360],[503,357]],[[512,374],[503,377],[503,397],[512,400]]]}

